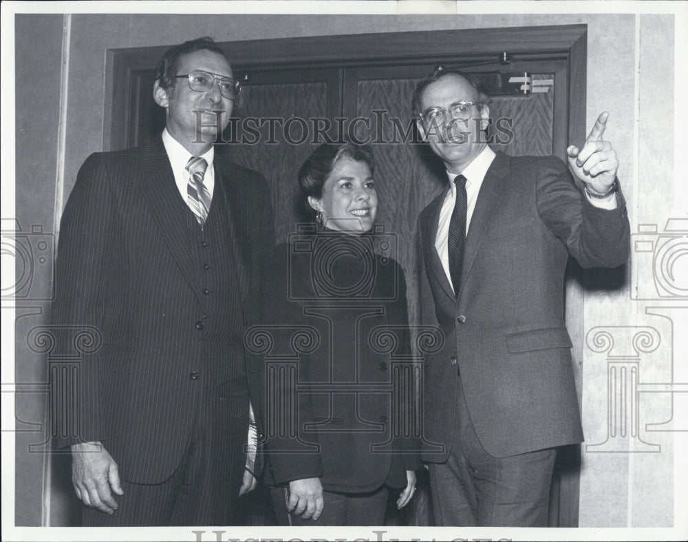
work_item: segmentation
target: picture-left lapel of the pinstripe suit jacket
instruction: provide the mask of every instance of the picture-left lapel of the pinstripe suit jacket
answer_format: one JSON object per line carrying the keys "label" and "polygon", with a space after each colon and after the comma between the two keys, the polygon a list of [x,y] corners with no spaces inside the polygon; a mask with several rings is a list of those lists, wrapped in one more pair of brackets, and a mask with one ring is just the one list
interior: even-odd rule
{"label": "picture-left lapel of the pinstripe suit jacket", "polygon": [[180,198],[169,158],[165,152],[162,138],[142,147],[140,156],[142,169],[141,192],[147,200],[151,213],[158,222],[164,242],[173,258],[177,261],[182,275],[199,301],[202,300],[200,284],[195,274],[195,267],[189,251],[189,234],[179,213],[175,212],[184,205]]}

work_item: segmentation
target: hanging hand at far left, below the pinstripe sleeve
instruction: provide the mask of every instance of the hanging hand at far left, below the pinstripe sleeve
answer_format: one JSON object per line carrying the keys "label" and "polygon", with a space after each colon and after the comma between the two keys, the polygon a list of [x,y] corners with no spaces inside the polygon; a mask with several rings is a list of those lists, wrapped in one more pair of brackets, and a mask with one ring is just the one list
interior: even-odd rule
{"label": "hanging hand at far left, below the pinstripe sleeve", "polygon": [[117,463],[100,442],[72,446],[72,484],[78,499],[106,514],[114,514],[118,508],[111,490],[125,494],[120,487]]}

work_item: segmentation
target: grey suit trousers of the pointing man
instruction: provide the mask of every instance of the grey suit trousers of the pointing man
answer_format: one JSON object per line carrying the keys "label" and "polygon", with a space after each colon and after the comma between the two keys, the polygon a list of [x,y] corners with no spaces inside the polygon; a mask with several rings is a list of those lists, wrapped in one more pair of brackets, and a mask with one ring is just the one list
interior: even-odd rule
{"label": "grey suit trousers of the pointing man", "polygon": [[436,525],[546,527],[556,450],[492,457],[477,438],[461,384],[445,463],[430,463]]}

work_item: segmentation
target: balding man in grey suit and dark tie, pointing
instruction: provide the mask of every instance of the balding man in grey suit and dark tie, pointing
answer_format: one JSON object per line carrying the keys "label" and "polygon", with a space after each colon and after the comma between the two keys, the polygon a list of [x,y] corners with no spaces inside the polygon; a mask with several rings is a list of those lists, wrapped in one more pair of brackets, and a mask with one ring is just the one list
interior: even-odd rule
{"label": "balding man in grey suit and dark tie, pointing", "polygon": [[422,318],[444,334],[425,362],[424,461],[438,525],[546,526],[555,447],[583,440],[566,261],[620,266],[629,224],[606,113],[582,149],[568,147],[572,177],[557,158],[493,152],[477,133],[488,103],[480,81],[452,70],[413,99],[449,177],[418,225]]}

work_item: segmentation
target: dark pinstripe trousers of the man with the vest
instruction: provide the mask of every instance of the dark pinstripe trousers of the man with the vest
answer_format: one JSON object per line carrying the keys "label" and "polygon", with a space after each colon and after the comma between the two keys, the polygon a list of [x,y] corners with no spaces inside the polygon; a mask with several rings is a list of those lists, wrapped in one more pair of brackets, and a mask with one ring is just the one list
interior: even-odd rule
{"label": "dark pinstripe trousers of the man with the vest", "polygon": [[109,515],[84,508],[84,526],[236,523],[233,514],[246,464],[248,397],[210,393],[201,401],[189,446],[174,474],[156,484],[122,481],[124,494],[113,494],[118,510]]}

